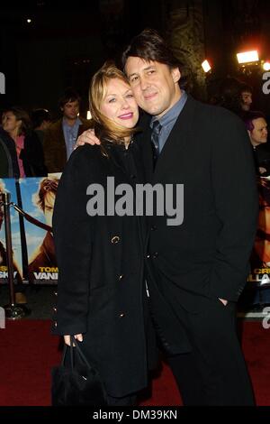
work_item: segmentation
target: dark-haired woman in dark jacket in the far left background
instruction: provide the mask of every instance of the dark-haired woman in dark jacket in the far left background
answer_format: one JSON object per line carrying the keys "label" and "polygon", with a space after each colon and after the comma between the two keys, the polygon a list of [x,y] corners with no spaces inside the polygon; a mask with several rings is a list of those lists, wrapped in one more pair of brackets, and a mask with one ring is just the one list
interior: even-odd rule
{"label": "dark-haired woman in dark jacket in the far left background", "polygon": [[44,177],[47,169],[44,164],[42,145],[31,131],[30,117],[21,107],[13,106],[4,111],[1,138],[10,149],[16,151],[19,175],[14,177]]}

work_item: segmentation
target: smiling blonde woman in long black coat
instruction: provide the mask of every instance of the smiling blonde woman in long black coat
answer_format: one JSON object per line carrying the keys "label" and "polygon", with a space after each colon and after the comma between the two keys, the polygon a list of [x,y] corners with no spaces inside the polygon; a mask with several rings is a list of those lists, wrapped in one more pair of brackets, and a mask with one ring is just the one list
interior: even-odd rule
{"label": "smiling blonde woman in long black coat", "polygon": [[54,333],[67,345],[75,335],[103,378],[109,404],[128,405],[147,386],[154,333],[143,280],[144,232],[135,214],[107,213],[121,198],[114,201],[107,185],[139,182],[139,152],[131,142],[139,111],[128,81],[113,65],[94,75],[89,96],[101,145],[77,148],[58,185]]}

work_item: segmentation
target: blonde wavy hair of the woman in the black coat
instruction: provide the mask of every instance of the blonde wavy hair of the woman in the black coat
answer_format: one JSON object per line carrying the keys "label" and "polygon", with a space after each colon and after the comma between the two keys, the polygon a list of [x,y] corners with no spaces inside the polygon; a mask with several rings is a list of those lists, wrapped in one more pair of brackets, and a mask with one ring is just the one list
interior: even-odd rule
{"label": "blonde wavy hair of the woman in the black coat", "polygon": [[91,80],[89,88],[89,108],[94,121],[95,134],[103,140],[112,143],[124,143],[125,137],[131,137],[139,131],[139,128],[124,128],[115,124],[111,119],[104,116],[100,111],[103,98],[106,95],[110,79],[118,78],[130,85],[128,79],[111,61],[106,61]]}

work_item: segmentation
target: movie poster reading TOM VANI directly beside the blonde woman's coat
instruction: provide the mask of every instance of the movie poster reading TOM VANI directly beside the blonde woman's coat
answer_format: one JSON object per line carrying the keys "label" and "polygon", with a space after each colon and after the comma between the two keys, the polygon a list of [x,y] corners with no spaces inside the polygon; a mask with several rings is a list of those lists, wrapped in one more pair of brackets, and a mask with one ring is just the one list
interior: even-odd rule
{"label": "movie poster reading TOM VANI directly beside the blonde woman's coat", "polygon": [[[58,177],[20,180],[28,253],[29,282],[54,284],[58,282],[58,267],[51,233],[52,213],[58,189]],[[48,229],[40,228],[39,223]]]}

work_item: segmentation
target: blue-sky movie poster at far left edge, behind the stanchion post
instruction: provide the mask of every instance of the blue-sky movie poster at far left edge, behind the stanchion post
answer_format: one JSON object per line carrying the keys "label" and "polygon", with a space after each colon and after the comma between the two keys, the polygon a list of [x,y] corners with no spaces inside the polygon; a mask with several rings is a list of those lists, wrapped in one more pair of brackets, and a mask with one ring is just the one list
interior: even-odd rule
{"label": "blue-sky movie poster at far left edge, behind the stanchion post", "polygon": [[[0,179],[0,193],[9,192],[11,202],[17,202],[14,179]],[[22,249],[18,213],[11,207],[12,245],[14,258],[14,280],[22,281]],[[5,251],[4,211],[0,208],[0,283],[8,281],[7,260]]]}

